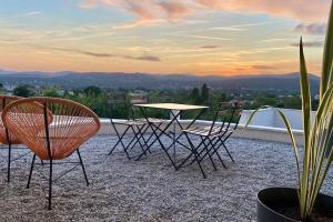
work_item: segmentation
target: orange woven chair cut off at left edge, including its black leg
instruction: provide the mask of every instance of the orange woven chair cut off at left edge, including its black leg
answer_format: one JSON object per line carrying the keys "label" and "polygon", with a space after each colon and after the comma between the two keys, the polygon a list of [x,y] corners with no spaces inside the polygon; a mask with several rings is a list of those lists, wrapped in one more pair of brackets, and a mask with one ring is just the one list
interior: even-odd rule
{"label": "orange woven chair cut off at left edge, including its black leg", "polygon": [[[0,94],[0,113],[3,109],[11,102],[22,99],[16,95]],[[21,141],[14,137],[12,133],[9,133],[8,129],[3,125],[2,120],[0,119],[0,143],[8,145],[8,167],[7,167],[7,182],[10,182],[10,164],[12,144],[21,144]]]}

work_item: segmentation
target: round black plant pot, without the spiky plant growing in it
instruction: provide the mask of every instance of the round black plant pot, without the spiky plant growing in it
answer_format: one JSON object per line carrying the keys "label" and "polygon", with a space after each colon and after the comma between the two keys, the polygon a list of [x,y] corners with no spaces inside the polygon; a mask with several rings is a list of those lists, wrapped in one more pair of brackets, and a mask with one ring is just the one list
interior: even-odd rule
{"label": "round black plant pot, without the spiky plant growing in it", "polygon": [[[294,209],[295,215],[299,214],[299,198],[296,189],[291,188],[269,188],[261,190],[258,193],[256,214],[258,222],[300,222],[296,219],[290,218],[286,214],[279,213],[278,209],[291,208]],[[315,209],[319,209],[321,215],[332,216],[333,198],[320,194]]]}

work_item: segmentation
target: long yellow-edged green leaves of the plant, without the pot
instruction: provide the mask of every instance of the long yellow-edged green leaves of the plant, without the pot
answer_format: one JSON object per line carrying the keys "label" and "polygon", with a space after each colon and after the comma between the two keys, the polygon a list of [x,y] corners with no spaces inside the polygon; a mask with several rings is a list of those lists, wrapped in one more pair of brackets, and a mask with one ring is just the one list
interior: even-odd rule
{"label": "long yellow-edged green leaves of the plant, without the pot", "polygon": [[[313,123],[311,122],[311,91],[302,38],[300,41],[300,88],[302,93],[302,120],[304,130],[302,170],[300,170],[301,161],[292,128],[284,113],[281,110],[278,110],[278,113],[286,127],[295,153],[301,219],[303,221],[309,221],[316,198],[326,178],[331,163],[333,162],[333,148],[331,144],[331,139],[333,137],[333,1],[331,3],[324,48],[321,98]],[[252,112],[245,127],[248,127],[253,119],[253,115],[260,109],[261,108]],[[327,152],[330,152],[329,157],[325,157]]]}

